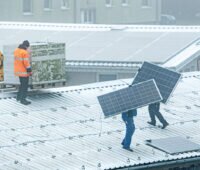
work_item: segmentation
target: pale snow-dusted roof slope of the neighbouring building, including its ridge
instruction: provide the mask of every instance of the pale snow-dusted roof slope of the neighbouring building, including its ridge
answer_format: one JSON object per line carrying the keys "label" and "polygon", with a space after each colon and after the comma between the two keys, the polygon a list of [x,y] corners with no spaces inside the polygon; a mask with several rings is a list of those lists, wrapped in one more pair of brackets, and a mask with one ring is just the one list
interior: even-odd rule
{"label": "pale snow-dusted roof slope of the neighbouring building, including its ridge", "polygon": [[[115,31],[116,27],[120,29]],[[199,26],[0,22],[0,30],[1,48],[24,39],[30,42],[64,42],[66,60],[85,62],[163,63],[200,37]]]}

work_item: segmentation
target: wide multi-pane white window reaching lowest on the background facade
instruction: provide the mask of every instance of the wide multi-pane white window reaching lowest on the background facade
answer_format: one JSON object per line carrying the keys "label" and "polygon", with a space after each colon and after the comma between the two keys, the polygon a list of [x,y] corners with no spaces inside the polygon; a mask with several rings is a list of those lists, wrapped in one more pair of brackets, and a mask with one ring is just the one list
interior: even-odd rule
{"label": "wide multi-pane white window reaching lowest on the background facade", "polygon": [[96,12],[95,9],[82,9],[81,10],[81,23],[94,24]]}

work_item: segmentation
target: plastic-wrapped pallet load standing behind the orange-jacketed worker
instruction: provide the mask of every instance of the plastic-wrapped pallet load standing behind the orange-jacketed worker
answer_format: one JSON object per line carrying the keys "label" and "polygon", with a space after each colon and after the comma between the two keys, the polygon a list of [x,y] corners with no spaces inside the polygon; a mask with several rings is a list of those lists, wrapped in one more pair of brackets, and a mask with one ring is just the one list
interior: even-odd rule
{"label": "plastic-wrapped pallet load standing behind the orange-jacketed worker", "polygon": [[[6,45],[3,48],[4,84],[19,84],[14,75],[14,50],[18,45]],[[65,44],[64,43],[31,43],[30,62],[32,66],[31,85],[65,82]]]}

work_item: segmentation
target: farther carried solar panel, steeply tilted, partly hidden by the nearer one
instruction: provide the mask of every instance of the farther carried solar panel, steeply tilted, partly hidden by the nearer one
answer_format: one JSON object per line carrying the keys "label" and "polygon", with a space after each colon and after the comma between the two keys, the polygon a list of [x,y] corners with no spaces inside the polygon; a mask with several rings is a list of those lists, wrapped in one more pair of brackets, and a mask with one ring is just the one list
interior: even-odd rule
{"label": "farther carried solar panel, steeply tilted, partly hidden by the nearer one", "polygon": [[132,84],[154,79],[163,97],[162,102],[166,103],[180,77],[180,73],[159,67],[152,63],[144,62]]}

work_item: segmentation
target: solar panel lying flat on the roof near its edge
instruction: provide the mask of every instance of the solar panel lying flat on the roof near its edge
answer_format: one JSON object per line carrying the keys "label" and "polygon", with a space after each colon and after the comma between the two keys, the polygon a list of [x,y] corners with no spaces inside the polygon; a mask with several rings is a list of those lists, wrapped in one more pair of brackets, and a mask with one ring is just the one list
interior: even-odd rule
{"label": "solar panel lying flat on the roof near its edge", "polygon": [[178,154],[178,153],[200,150],[200,145],[179,136],[163,138],[163,139],[147,140],[146,144],[169,154]]}

